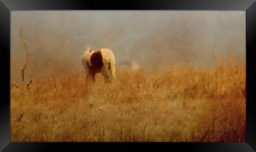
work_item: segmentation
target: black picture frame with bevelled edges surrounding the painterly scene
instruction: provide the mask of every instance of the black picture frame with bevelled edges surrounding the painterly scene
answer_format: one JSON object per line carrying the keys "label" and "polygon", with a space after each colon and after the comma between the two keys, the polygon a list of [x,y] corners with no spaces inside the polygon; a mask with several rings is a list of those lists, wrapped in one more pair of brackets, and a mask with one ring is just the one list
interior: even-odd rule
{"label": "black picture frame with bevelled edges surrounding the painterly scene", "polygon": [[[246,142],[241,143],[15,143],[10,142],[10,12],[13,10],[244,10],[246,11]],[[2,96],[0,102],[0,150],[9,151],[74,151],[88,147],[133,149],[131,145],[158,150],[165,145],[168,150],[250,152],[256,150],[256,118],[253,100],[254,64],[256,45],[255,0],[137,0],[119,2],[72,0],[0,0],[0,46]],[[3,66],[4,65],[4,66]],[[9,72],[8,72],[9,71]],[[101,146],[98,146],[98,145]],[[86,147],[86,148],[85,148]],[[62,149],[62,150],[60,150]],[[120,150],[121,150],[120,149]],[[145,149],[144,149],[145,150]]]}

